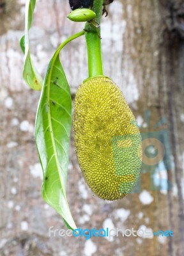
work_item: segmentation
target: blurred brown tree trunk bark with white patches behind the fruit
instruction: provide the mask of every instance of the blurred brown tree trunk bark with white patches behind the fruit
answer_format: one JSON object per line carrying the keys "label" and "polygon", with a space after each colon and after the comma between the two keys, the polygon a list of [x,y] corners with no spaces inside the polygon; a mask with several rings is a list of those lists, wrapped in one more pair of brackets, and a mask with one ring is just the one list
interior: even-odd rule
{"label": "blurred brown tree trunk bark with white patches behind the fruit", "polygon": [[[40,192],[42,168],[34,143],[40,92],[29,90],[22,80],[24,56],[19,47],[25,3],[0,0],[0,255],[184,255],[183,0],[114,0],[107,6],[108,17],[102,17],[104,74],[121,88],[142,136],[157,134],[165,147],[164,158],[151,165],[144,154],[134,193],[105,202],[84,182],[72,134],[67,191],[77,227],[172,230],[174,237],[89,240],[49,237],[49,227],[65,225]],[[69,12],[67,0],[36,3],[30,42],[42,76],[56,47],[84,26],[66,19]],[[65,48],[61,62],[74,99],[77,87],[88,77],[84,37]],[[162,155],[163,148],[157,146]]]}

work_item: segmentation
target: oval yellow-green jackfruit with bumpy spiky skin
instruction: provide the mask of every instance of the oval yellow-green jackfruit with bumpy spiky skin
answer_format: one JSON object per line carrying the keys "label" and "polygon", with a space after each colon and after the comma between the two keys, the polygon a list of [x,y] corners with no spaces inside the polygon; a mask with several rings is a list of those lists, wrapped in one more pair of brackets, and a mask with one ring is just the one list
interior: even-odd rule
{"label": "oval yellow-green jackfruit with bumpy spiky skin", "polygon": [[81,84],[73,130],[79,166],[93,193],[104,200],[130,193],[141,171],[141,134],[111,79],[94,77]]}

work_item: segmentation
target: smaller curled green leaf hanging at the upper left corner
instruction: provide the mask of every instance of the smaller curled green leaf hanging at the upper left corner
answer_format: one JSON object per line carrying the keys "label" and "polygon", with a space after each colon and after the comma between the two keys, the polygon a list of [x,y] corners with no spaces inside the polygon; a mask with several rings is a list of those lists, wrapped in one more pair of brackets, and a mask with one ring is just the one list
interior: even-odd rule
{"label": "smaller curled green leaf hanging at the upper left corner", "polygon": [[29,51],[29,29],[31,27],[31,22],[33,19],[34,7],[36,0],[27,0],[26,2],[26,11],[25,11],[25,35],[20,39],[20,47],[22,52],[25,54],[24,61],[24,71],[23,77],[26,83],[33,90],[41,90],[43,79],[42,76],[38,73],[36,68],[33,65],[31,60],[31,55]]}

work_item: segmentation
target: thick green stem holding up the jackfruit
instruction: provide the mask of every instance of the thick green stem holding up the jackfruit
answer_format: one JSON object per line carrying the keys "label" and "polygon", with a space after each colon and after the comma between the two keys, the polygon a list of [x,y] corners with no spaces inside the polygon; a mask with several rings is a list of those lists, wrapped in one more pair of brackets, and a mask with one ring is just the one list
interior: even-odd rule
{"label": "thick green stem holding up the jackfruit", "polygon": [[[96,13],[96,21],[100,25],[103,0],[94,0],[93,11]],[[88,50],[89,77],[104,76],[102,63],[102,49],[100,28],[93,28],[88,22],[85,26],[86,45]]]}

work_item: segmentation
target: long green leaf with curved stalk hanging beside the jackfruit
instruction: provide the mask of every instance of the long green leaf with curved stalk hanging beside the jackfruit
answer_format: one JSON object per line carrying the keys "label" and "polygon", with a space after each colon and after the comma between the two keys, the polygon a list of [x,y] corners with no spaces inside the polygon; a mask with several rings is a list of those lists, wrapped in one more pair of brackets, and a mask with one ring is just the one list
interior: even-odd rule
{"label": "long green leaf with curved stalk hanging beside the jackfruit", "polygon": [[77,228],[66,200],[66,178],[72,125],[72,98],[59,52],[84,31],[70,36],[50,60],[36,114],[35,138],[43,169],[42,196],[63,216],[66,227]]}

